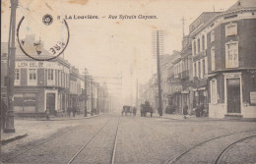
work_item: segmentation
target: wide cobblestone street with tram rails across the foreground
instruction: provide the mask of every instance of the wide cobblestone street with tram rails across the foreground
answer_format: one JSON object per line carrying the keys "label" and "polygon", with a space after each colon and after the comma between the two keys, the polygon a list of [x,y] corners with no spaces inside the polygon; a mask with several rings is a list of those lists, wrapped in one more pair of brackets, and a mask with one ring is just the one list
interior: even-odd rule
{"label": "wide cobblestone street with tram rails across the foreground", "polygon": [[[251,137],[256,135],[255,122],[119,117],[117,114],[53,124],[47,122],[49,127],[55,125],[55,128],[52,127],[55,132],[48,135],[29,134],[2,145],[2,162],[69,163],[86,144],[70,163],[111,163],[118,119],[120,124],[114,163],[213,163],[227,145],[243,137],[250,138],[234,144],[221,161],[256,162],[255,137]],[[33,122],[36,124],[27,121],[31,129],[45,124],[45,121]],[[61,127],[56,129],[58,126]]]}

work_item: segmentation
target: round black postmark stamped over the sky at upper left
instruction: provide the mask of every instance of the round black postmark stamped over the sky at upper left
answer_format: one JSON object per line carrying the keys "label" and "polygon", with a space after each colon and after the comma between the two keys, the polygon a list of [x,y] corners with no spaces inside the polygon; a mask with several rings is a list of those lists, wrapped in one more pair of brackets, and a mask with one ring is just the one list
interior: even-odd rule
{"label": "round black postmark stamped over the sky at upper left", "polygon": [[43,15],[42,22],[34,18],[23,17],[18,24],[17,38],[22,52],[37,61],[49,61],[60,56],[69,43],[70,31],[66,20],[53,22],[49,14]]}

